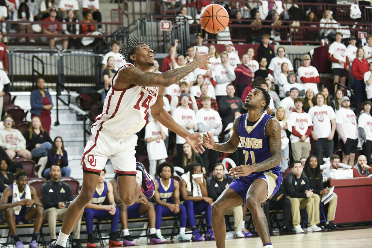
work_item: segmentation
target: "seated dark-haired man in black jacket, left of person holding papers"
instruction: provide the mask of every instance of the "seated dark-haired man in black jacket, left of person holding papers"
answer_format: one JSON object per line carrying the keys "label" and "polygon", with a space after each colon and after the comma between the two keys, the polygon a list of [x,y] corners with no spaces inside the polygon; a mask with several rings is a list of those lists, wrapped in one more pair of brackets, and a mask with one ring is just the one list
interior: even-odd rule
{"label": "seated dark-haired man in black jacket, left of person holding papers", "polygon": [[284,190],[288,195],[287,198],[291,201],[292,223],[296,233],[304,232],[300,225],[300,209],[306,207],[308,214],[307,231],[318,232],[321,231],[321,228],[315,225],[314,199],[311,197],[312,190],[310,190],[307,176],[302,175],[302,171],[302,163],[294,161],[292,163],[292,173],[284,179]]}

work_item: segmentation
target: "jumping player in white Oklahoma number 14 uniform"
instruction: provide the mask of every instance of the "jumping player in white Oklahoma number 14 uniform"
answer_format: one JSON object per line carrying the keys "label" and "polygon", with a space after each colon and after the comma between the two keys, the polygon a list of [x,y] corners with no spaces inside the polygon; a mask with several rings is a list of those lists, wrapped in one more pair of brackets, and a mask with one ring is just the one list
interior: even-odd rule
{"label": "jumping player in white Oklahoma number 14 uniform", "polygon": [[141,163],[136,164],[134,156],[135,133],[144,127],[144,117],[150,107],[152,115],[161,124],[185,138],[196,152],[204,151],[201,135],[187,132],[163,109],[163,93],[164,87],[176,83],[196,68],[206,68],[212,53],[200,55],[196,50],[192,62],[163,74],[149,72],[154,65],[154,51],[143,38],[129,38],[121,53],[128,63],[115,73],[103,112],[92,125],[81,160],[83,186],[65,213],[58,239],[49,244],[49,248],[66,247],[68,235],[81,218],[84,207],[91,202],[107,158],[118,175],[119,196],[125,205],[132,205],[141,190],[146,197],[153,196],[154,180]]}

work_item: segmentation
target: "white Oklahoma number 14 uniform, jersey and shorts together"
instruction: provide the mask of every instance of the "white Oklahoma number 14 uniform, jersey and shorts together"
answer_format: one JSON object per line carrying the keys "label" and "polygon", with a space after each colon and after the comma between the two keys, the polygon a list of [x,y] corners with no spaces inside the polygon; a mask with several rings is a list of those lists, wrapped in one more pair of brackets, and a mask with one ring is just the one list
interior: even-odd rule
{"label": "white Oklahoma number 14 uniform, jersey and shorts together", "polygon": [[84,170],[100,173],[109,158],[115,172],[136,174],[135,133],[145,126],[144,117],[156,102],[159,87],[134,84],[125,89],[113,87],[118,72],[128,66],[134,65],[127,63],[115,73],[103,112],[92,125],[81,160]]}

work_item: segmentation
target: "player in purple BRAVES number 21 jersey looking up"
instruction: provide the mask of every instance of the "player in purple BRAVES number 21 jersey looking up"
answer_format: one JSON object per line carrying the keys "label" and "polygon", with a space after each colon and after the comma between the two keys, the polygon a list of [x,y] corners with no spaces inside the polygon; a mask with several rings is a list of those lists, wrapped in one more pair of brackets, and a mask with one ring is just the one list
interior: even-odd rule
{"label": "player in purple BRAVES number 21 jersey looking up", "polygon": [[243,204],[252,213],[253,224],[263,247],[273,247],[261,203],[275,194],[283,181],[279,167],[282,141],[279,122],[264,112],[269,103],[269,93],[262,87],[254,87],[244,104],[248,113],[235,118],[229,141],[215,144],[209,133],[203,136],[206,148],[220,152],[235,152],[240,142],[245,156],[245,165],[229,171],[237,178],[212,204],[212,229],[217,248],[225,248],[225,212]]}

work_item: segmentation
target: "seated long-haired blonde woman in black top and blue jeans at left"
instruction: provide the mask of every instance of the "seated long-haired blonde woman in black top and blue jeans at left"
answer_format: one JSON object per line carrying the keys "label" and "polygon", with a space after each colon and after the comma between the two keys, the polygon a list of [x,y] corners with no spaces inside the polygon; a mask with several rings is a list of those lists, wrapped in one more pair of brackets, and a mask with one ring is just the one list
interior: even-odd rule
{"label": "seated long-haired blonde woman in black top and blue jeans at left", "polygon": [[52,139],[41,125],[39,116],[31,119],[30,127],[25,133],[27,149],[32,157],[48,156],[48,151],[52,148]]}

